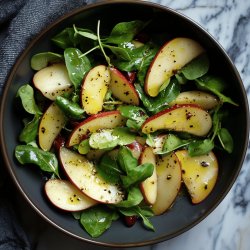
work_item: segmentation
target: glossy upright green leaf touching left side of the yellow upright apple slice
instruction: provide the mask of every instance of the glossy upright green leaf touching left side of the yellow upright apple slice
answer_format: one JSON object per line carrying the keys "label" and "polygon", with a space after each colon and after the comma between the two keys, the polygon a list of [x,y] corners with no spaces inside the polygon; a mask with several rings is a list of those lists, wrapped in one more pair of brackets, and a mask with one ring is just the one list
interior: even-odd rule
{"label": "glossy upright green leaf touching left side of the yellow upright apple slice", "polygon": [[75,89],[78,89],[85,74],[91,69],[90,61],[86,56],[82,56],[82,52],[76,48],[65,49],[64,58],[69,78]]}

